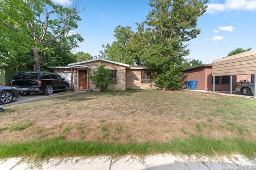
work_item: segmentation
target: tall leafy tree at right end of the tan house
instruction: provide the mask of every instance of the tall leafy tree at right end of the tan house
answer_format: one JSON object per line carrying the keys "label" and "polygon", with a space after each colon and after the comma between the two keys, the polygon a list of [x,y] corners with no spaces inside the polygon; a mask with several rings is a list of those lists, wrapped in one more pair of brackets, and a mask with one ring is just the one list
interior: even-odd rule
{"label": "tall leafy tree at right end of the tan house", "polygon": [[152,10],[144,22],[149,35],[143,60],[155,70],[154,82],[165,90],[182,86],[183,62],[189,54],[186,42],[196,38],[200,30],[197,19],[205,10],[206,1],[151,0]]}

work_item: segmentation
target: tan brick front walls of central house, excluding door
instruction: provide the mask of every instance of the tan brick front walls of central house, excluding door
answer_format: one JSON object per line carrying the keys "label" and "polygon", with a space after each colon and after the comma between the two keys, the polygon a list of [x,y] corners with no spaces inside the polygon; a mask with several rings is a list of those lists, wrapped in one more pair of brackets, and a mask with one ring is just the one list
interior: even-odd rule
{"label": "tan brick front walls of central house, excluding door", "polygon": [[[125,90],[125,89],[156,89],[154,83],[141,83],[141,71],[145,70],[145,66],[132,66],[129,67],[127,64],[118,64],[113,62],[107,62],[102,60],[94,60],[91,62],[86,63],[79,63],[73,67],[74,69],[74,90],[77,90],[77,73],[79,70],[87,70],[87,78],[89,84],[89,90],[97,90],[95,85],[89,78],[92,69],[96,69],[100,64],[105,64],[105,66],[110,70],[116,70],[116,84],[111,84],[109,89],[116,89],[116,90]],[[127,65],[127,66],[126,66]],[[84,67],[86,66],[86,67]],[[138,69],[137,69],[138,67]],[[55,73],[62,74],[71,80],[71,67],[55,67]],[[68,76],[67,76],[68,75]],[[68,80],[68,81],[70,81]]]}

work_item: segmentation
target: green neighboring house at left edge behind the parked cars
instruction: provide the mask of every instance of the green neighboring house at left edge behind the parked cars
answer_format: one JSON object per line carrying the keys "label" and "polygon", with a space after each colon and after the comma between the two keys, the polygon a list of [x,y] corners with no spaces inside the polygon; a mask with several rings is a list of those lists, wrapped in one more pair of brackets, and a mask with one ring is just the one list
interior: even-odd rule
{"label": "green neighboring house at left edge behind the parked cars", "polygon": [[10,85],[15,70],[8,64],[0,64],[0,85]]}

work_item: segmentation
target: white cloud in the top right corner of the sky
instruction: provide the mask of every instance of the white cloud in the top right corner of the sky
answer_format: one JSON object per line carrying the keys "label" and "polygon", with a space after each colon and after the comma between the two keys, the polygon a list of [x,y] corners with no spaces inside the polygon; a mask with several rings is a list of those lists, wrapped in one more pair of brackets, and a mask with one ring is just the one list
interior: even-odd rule
{"label": "white cloud in the top right corner of the sky", "polygon": [[207,13],[218,13],[222,11],[244,10],[256,11],[256,0],[225,0],[224,4],[207,4]]}

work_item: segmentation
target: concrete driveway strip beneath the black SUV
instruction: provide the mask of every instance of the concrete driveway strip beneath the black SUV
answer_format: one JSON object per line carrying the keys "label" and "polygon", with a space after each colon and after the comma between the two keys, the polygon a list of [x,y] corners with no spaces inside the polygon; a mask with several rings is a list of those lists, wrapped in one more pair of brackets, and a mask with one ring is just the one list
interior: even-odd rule
{"label": "concrete driveway strip beneath the black SUV", "polygon": [[31,94],[29,96],[20,96],[18,99],[14,99],[12,101],[12,103],[9,103],[9,104],[6,104],[6,105],[0,105],[0,107],[17,105],[17,104],[26,103],[26,102],[29,102],[29,101],[42,100],[42,99],[45,99],[45,98],[56,96],[59,93],[60,92],[54,92],[53,95],[51,95],[51,96],[45,96],[43,94],[43,92],[38,92],[37,94]]}

